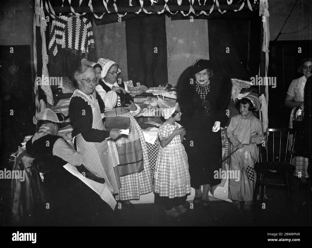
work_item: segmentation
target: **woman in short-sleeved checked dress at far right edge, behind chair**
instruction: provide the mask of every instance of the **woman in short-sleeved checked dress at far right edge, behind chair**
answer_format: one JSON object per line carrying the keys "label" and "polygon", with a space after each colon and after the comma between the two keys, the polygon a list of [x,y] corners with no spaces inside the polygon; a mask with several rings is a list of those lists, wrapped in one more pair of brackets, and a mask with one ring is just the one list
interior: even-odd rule
{"label": "woman in short-sleeved checked dress at far right edge, behind chair", "polygon": [[[305,83],[312,73],[312,58],[305,58],[304,60],[302,60],[301,66],[298,68],[297,71],[303,73],[303,76],[298,79],[294,79],[290,83],[284,102],[285,107],[292,108],[290,112],[289,128],[293,128],[293,119],[295,117],[296,109],[305,109],[304,90]],[[290,134],[288,148],[290,149],[292,145],[293,145],[293,135]],[[309,178],[308,158],[305,158],[303,156],[295,156],[292,160],[292,165],[296,166],[294,176],[298,176],[299,174],[301,174],[300,189],[301,190],[308,189],[307,185],[307,179]]]}

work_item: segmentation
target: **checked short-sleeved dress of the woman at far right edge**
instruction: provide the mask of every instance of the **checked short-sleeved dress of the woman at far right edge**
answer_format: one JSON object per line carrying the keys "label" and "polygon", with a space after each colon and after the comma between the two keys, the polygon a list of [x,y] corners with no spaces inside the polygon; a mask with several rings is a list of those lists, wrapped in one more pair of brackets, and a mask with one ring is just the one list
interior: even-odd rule
{"label": "checked short-sleeved dress of the woman at far right edge", "polygon": [[[304,88],[305,88],[305,76],[302,76],[301,78],[294,79],[288,88],[287,94],[294,97],[295,102],[303,102],[304,101]],[[290,120],[289,120],[289,128],[293,128],[292,121],[295,117],[295,108],[291,110],[290,113]],[[288,139],[288,150],[291,149],[293,145],[293,135],[289,135]],[[308,165],[309,160],[308,158],[302,157],[302,156],[295,156],[291,160],[291,164],[296,166],[296,170],[294,171],[294,176],[298,176],[298,173],[301,172],[301,176],[305,178],[309,178],[308,174]]]}

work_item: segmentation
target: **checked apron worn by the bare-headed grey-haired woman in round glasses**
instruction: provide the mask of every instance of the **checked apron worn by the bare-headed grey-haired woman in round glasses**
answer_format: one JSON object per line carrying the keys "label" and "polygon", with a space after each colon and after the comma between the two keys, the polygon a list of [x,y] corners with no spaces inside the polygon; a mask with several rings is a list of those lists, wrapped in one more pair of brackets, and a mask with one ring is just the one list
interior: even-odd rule
{"label": "checked apron worn by the bare-headed grey-haired woman in round glasses", "polygon": [[[92,128],[104,130],[99,103],[94,95],[92,94],[92,99],[90,99],[81,91],[76,90],[73,96],[79,96],[90,104],[93,113]],[[112,194],[118,193],[120,188],[118,166],[113,167],[107,140],[87,142],[80,133],[76,135],[76,142],[77,151],[80,151],[83,156],[82,164],[85,168],[96,176],[104,178]]]}

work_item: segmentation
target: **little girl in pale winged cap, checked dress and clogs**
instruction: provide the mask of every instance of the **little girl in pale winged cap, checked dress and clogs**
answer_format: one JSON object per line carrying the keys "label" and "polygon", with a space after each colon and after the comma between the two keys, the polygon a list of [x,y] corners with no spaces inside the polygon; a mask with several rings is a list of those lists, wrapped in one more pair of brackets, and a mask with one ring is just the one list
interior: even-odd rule
{"label": "little girl in pale winged cap, checked dress and clogs", "polygon": [[187,211],[183,202],[186,194],[191,193],[188,157],[182,145],[186,131],[176,122],[182,115],[178,103],[158,100],[158,105],[166,121],[158,130],[161,147],[155,167],[154,192],[163,198],[165,213],[178,217]]}

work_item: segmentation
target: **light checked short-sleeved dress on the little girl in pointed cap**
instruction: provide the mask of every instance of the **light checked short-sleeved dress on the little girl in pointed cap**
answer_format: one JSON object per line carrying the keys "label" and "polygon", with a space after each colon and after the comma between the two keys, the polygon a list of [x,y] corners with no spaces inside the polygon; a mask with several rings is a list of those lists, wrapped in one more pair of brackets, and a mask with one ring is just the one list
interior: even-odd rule
{"label": "light checked short-sleeved dress on the little girl in pointed cap", "polygon": [[[159,139],[168,138],[180,124],[164,123],[158,130]],[[169,198],[182,197],[191,193],[188,157],[181,143],[180,135],[175,136],[165,147],[160,147],[155,167],[154,192]]]}

